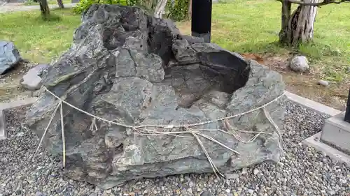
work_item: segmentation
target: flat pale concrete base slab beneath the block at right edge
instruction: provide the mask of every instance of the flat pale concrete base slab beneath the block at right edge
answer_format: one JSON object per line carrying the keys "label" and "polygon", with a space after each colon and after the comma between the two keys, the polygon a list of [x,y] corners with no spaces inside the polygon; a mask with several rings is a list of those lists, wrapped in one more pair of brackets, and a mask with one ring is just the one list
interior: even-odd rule
{"label": "flat pale concrete base slab beneath the block at right edge", "polygon": [[321,132],[316,133],[315,135],[312,135],[311,137],[308,137],[307,139],[303,140],[302,144],[306,144],[307,146],[314,147],[316,150],[322,151],[333,160],[346,163],[346,165],[349,165],[350,167],[349,155],[335,148],[332,148],[332,146],[328,146],[327,144],[324,144],[323,142],[321,142],[320,139],[321,139]]}

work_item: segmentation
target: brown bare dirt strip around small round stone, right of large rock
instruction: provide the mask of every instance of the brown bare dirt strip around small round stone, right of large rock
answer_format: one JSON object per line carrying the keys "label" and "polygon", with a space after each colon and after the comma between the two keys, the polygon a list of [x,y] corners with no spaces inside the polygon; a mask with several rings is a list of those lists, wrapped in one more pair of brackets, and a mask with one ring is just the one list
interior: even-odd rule
{"label": "brown bare dirt strip around small round stone, right of large rock", "polygon": [[318,80],[321,80],[321,77],[313,68],[311,68],[309,73],[303,74],[295,73],[293,70],[288,69],[289,56],[272,56],[269,54],[265,56],[259,56],[258,54],[241,55],[246,59],[258,61],[258,63],[283,75],[287,91],[318,103],[323,103],[337,110],[345,110],[350,88],[349,82],[330,83],[329,86],[320,86],[318,85]]}

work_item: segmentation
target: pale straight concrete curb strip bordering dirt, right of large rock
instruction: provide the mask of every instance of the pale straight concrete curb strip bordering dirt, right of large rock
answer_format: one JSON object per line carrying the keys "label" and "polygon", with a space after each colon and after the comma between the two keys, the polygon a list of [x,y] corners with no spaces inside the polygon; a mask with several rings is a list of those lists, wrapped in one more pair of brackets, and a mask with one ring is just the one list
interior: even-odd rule
{"label": "pale straight concrete curb strip bordering dirt, right of large rock", "polygon": [[301,96],[298,96],[294,93],[290,93],[288,91],[285,91],[286,96],[288,97],[289,100],[302,105],[304,107],[307,107],[311,110],[314,110],[316,112],[321,112],[322,114],[327,114],[330,116],[335,116],[339,113],[341,113],[342,111],[340,110],[336,110],[332,107],[328,107],[327,105],[323,105],[321,103],[317,103],[314,100],[310,100],[308,98],[303,98]]}

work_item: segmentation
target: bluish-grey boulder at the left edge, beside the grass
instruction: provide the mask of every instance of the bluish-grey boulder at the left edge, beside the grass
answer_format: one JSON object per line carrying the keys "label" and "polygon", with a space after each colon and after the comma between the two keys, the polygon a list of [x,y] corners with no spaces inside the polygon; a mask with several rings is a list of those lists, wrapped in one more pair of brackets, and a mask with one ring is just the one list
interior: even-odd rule
{"label": "bluish-grey boulder at the left edge, beside the grass", "polygon": [[20,52],[12,42],[0,41],[0,75],[13,68],[20,60]]}

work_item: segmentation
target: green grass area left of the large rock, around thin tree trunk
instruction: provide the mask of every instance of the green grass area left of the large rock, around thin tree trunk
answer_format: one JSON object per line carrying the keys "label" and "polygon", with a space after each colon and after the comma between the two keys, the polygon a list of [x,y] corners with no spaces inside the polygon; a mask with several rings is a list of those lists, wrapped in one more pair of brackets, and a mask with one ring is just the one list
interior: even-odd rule
{"label": "green grass area left of the large rock, around thin tree trunk", "polygon": [[43,21],[39,11],[0,14],[0,40],[10,40],[30,61],[47,63],[67,50],[80,15],[70,9],[51,10],[59,20]]}

